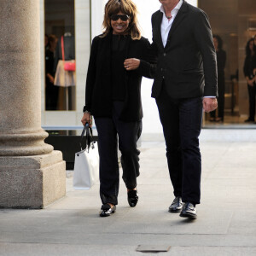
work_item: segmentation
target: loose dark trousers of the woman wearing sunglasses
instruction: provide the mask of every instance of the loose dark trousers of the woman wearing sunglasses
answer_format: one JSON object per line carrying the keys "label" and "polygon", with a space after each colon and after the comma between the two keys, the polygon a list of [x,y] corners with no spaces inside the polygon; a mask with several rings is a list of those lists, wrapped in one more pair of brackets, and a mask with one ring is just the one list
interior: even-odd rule
{"label": "loose dark trousers of the woman wearing sunglasses", "polygon": [[100,155],[100,195],[102,204],[118,204],[119,163],[118,150],[121,152],[123,180],[127,189],[137,187],[139,176],[139,154],[137,140],[142,133],[142,121],[124,122],[119,120],[123,102],[113,102],[112,118],[95,118],[98,131]]}

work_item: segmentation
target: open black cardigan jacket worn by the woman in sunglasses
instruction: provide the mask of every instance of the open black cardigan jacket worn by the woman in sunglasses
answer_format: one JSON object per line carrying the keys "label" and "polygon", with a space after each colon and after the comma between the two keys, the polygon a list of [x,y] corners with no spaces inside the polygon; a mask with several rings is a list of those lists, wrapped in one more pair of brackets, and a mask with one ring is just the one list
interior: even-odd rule
{"label": "open black cardigan jacket worn by the woman in sunglasses", "polygon": [[[153,78],[156,61],[148,39],[132,40],[127,37],[126,58],[137,58],[141,63],[137,70],[125,71],[125,104],[119,119],[138,121],[143,118],[142,78]],[[90,49],[84,111],[90,111],[95,117],[112,116],[111,38],[112,33],[104,38],[97,36]]]}

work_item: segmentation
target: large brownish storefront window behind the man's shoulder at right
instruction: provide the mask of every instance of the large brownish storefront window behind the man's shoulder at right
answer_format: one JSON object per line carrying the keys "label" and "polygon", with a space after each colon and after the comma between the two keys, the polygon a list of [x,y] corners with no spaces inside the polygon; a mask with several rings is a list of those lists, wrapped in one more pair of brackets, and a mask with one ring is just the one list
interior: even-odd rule
{"label": "large brownish storefront window behind the man's shoulder at right", "polygon": [[[207,13],[212,32],[222,43],[222,49],[217,49],[218,109],[213,115],[206,114],[205,125],[252,128],[253,122],[247,121],[250,103],[243,67],[247,42],[256,35],[256,1],[198,0],[198,6]],[[221,52],[226,54],[224,64],[221,63]]]}

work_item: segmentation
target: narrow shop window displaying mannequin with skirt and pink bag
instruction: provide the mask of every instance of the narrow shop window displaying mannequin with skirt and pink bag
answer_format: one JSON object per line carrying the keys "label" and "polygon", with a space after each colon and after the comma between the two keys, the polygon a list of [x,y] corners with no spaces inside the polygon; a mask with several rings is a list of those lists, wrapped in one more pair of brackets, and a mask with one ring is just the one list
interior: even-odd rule
{"label": "narrow shop window displaying mannequin with skirt and pink bag", "polygon": [[45,110],[75,110],[74,0],[44,0],[44,29]]}

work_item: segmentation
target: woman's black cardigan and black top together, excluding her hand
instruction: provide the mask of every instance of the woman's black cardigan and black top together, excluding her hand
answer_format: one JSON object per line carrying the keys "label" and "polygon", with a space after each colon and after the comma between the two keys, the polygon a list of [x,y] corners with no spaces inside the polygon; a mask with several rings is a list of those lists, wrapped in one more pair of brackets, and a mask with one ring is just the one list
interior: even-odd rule
{"label": "woman's black cardigan and black top together, excluding her hand", "polygon": [[[136,58],[140,66],[126,71],[125,59]],[[143,118],[141,84],[143,76],[154,78],[156,58],[148,39],[118,38],[108,33],[93,39],[86,78],[84,111],[94,117],[112,117],[113,100],[123,101],[119,119],[138,121]]]}

